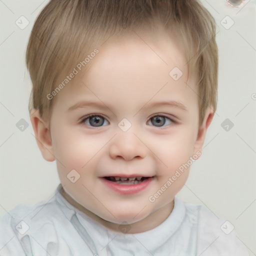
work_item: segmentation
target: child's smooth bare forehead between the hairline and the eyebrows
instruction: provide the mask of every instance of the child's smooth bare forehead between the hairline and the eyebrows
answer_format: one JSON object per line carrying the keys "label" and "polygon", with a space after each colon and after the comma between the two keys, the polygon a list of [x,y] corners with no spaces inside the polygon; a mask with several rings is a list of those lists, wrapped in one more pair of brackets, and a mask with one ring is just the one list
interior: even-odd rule
{"label": "child's smooth bare forehead between the hairline and the eyebrows", "polygon": [[[106,104],[113,104],[114,100],[115,105],[128,106],[124,99],[132,98],[134,107],[138,107],[135,99],[139,103],[146,103],[152,97],[171,100],[170,96],[187,103],[197,100],[195,93],[190,95],[196,88],[193,77],[189,77],[192,90],[187,86],[187,60],[175,37],[132,32],[108,39],[98,50],[86,72],[81,70],[71,86],[59,93],[62,103],[70,106],[83,99],[93,99]],[[174,80],[173,74],[181,76]]]}

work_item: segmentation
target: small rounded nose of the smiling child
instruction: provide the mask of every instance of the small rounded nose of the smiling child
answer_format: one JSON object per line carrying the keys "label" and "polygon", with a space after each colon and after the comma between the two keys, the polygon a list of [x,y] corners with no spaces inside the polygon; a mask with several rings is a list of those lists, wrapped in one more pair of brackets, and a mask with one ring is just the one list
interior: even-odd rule
{"label": "small rounded nose of the smiling child", "polygon": [[111,140],[110,157],[113,159],[123,158],[126,161],[133,158],[144,158],[147,147],[143,142],[143,139],[135,132],[133,133],[131,128],[127,131],[119,130]]}

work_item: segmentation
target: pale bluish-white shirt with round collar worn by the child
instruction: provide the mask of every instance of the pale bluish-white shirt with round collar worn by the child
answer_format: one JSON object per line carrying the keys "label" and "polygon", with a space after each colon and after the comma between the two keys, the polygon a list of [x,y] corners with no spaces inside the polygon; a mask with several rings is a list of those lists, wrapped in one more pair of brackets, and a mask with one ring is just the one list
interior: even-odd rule
{"label": "pale bluish-white shirt with round collar worn by the child", "polygon": [[0,219],[0,256],[249,255],[231,223],[177,196],[161,224],[129,234],[93,220],[72,206],[60,189],[61,184],[49,200],[34,206],[18,204]]}

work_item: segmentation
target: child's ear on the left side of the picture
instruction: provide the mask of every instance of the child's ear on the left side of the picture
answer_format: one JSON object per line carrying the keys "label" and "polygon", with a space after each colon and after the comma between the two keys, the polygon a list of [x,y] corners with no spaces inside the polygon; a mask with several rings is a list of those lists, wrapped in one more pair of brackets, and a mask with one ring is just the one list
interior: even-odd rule
{"label": "child's ear on the left side of the picture", "polygon": [[40,117],[38,109],[33,109],[30,112],[30,120],[42,157],[46,161],[54,161],[55,156],[53,154],[49,124]]}

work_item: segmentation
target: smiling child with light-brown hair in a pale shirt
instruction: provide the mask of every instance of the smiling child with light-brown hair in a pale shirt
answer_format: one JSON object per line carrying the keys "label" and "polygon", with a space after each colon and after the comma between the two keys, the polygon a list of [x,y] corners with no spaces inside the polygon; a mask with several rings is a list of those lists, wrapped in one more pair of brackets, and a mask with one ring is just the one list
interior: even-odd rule
{"label": "smiling child with light-brown hair in a pale shirt", "polygon": [[215,23],[198,1],[51,0],[26,63],[60,184],[1,218],[1,256],[248,255],[223,220],[175,196],[216,109]]}

